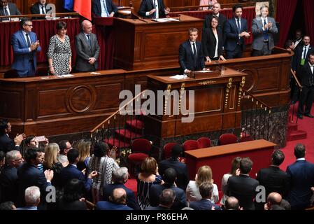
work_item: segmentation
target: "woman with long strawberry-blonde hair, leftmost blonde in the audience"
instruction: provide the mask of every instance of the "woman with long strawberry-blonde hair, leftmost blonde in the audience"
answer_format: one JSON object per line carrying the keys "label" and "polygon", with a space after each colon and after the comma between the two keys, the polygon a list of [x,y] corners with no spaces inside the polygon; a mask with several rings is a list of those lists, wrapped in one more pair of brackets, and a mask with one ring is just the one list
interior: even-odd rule
{"label": "woman with long strawberry-blonde hair, leftmost blonde in the audience", "polygon": [[61,189],[62,183],[60,179],[60,172],[63,168],[62,163],[57,160],[60,149],[56,143],[50,143],[45,147],[45,160],[43,161],[43,171],[53,170],[52,186]]}

